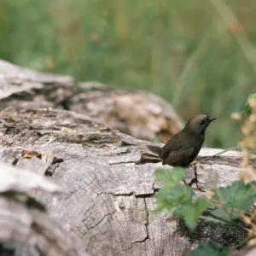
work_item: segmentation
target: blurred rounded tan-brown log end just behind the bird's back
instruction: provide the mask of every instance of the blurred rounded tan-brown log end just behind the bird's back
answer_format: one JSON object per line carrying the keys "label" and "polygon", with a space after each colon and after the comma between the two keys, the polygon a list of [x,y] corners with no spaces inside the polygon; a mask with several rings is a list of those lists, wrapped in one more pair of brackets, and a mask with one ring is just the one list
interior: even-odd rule
{"label": "blurred rounded tan-brown log end just behind the bird's back", "polygon": [[99,119],[110,128],[139,139],[166,142],[183,128],[183,121],[170,103],[141,90],[81,83],[67,102],[69,110]]}

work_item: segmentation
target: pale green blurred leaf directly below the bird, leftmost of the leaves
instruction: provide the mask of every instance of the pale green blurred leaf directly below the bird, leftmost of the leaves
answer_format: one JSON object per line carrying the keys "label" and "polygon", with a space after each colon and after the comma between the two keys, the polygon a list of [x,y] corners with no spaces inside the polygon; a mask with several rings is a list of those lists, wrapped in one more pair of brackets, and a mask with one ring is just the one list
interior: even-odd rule
{"label": "pale green blurred leaf directly below the bird, leftmost of the leaves", "polygon": [[193,195],[193,189],[183,184],[178,183],[177,185],[170,186],[168,183],[165,183],[155,195],[157,207],[154,212],[161,212],[163,210],[172,212],[173,208],[192,201]]}

